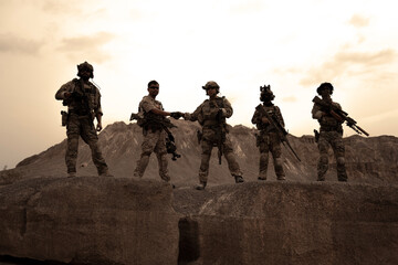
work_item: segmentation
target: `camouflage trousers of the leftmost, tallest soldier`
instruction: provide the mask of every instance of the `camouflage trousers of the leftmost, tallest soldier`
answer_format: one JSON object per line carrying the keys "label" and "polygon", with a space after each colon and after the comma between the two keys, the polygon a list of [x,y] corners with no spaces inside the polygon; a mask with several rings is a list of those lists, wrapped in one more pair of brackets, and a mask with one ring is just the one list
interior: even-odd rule
{"label": "camouflage trousers of the leftmost, tallest soldier", "polygon": [[67,147],[65,155],[65,162],[67,173],[76,172],[78,137],[81,136],[85,144],[90,146],[92,151],[92,159],[97,168],[98,174],[108,172],[108,167],[102,156],[98,137],[93,124],[88,116],[77,116],[70,114],[66,124]]}

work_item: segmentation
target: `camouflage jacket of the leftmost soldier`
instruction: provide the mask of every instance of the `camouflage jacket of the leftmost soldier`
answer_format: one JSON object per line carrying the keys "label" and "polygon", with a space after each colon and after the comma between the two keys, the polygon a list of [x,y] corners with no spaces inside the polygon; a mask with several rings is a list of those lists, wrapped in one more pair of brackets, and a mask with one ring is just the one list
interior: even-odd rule
{"label": "camouflage jacket of the leftmost soldier", "polygon": [[[65,97],[65,93],[78,95],[78,97]],[[91,82],[84,83],[83,80],[74,78],[55,93],[55,98],[64,100],[69,112],[90,112],[93,116],[103,115],[101,108],[101,94],[98,88]],[[88,108],[88,109],[87,109]]]}

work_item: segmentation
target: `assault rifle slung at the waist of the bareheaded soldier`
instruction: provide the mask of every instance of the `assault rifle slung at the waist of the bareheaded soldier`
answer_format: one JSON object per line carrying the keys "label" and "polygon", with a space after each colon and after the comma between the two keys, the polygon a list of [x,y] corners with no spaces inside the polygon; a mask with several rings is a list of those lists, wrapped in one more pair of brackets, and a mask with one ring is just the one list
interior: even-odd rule
{"label": "assault rifle slung at the waist of the bareheaded soldier", "polygon": [[136,119],[137,120],[137,125],[140,126],[140,127],[145,127],[145,125],[148,123],[148,121],[156,121],[157,124],[160,125],[161,129],[164,129],[166,132],[167,132],[167,138],[166,138],[166,150],[167,150],[167,153],[171,153],[172,155],[172,158],[171,160],[172,161],[176,161],[177,158],[180,158],[181,155],[177,153],[177,146],[176,146],[176,142],[175,142],[175,138],[174,138],[174,135],[171,134],[171,131],[168,129],[168,128],[177,128],[177,126],[175,126],[174,124],[171,124],[171,121],[168,119],[168,118],[161,118],[161,119],[153,119],[153,120],[147,120],[149,119],[148,117],[144,118],[142,115],[139,114],[135,114],[135,113],[132,113],[130,115],[130,118],[129,120],[134,120]]}

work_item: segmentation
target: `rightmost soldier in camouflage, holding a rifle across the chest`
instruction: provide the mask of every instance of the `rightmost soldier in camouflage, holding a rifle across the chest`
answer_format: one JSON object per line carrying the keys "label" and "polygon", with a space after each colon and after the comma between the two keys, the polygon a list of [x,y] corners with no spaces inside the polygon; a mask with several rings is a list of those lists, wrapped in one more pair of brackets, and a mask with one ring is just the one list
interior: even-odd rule
{"label": "rightmost soldier in camouflage, holding a rifle across the chest", "polygon": [[[332,100],[331,95],[333,94],[333,86],[331,83],[322,83],[321,86],[316,89],[317,94],[322,96],[322,100],[333,104],[337,108],[342,109],[342,106],[338,103]],[[347,181],[347,173],[345,169],[345,148],[343,145],[343,126],[342,121],[335,119],[332,115],[328,114],[328,109],[325,109],[318,104],[314,104],[312,109],[312,117],[317,119],[321,128],[318,136],[318,149],[320,149],[320,160],[317,165],[317,180],[324,181],[325,173],[328,168],[328,148],[332,146],[333,152],[336,158],[337,163],[337,179],[338,181]]]}

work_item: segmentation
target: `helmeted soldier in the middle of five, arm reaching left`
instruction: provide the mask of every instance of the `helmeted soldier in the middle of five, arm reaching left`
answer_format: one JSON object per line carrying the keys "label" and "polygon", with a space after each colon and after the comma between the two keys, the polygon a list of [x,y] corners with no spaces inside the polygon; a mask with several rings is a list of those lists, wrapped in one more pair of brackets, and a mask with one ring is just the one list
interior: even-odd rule
{"label": "helmeted soldier in the middle of five, arm reaching left", "polygon": [[209,96],[209,99],[206,99],[192,114],[184,114],[186,120],[198,120],[202,126],[201,137],[199,137],[202,149],[199,169],[200,183],[196,189],[203,190],[206,188],[209,174],[209,160],[213,147],[219,149],[219,162],[221,162],[221,155],[224,153],[228,168],[235,183],[241,183],[243,182],[242,172],[233,155],[226,123],[226,119],[231,117],[233,113],[231,104],[226,97],[217,96],[220,92],[220,86],[216,82],[209,81],[202,88],[206,89],[206,95]]}

